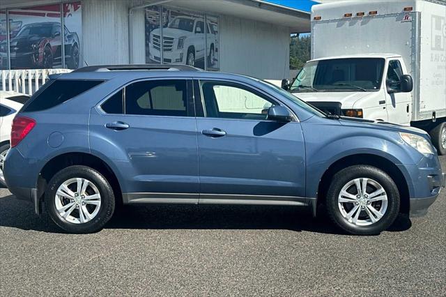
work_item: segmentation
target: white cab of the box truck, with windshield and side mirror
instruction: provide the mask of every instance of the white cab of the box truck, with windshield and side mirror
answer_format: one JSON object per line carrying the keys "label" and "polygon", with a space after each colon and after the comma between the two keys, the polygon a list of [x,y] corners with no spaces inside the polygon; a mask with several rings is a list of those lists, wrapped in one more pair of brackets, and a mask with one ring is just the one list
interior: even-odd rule
{"label": "white cab of the box truck, with windshield and side mirror", "polygon": [[413,82],[397,54],[308,61],[289,91],[324,112],[410,125]]}

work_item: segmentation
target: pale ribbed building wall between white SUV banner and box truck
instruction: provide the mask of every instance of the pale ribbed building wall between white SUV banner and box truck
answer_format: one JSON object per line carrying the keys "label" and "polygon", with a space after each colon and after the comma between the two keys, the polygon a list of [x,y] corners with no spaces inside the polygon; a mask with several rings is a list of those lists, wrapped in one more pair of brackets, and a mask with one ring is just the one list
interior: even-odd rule
{"label": "pale ribbed building wall between white SUV banner and box truck", "polygon": [[289,77],[287,27],[226,15],[219,19],[220,70],[261,79]]}

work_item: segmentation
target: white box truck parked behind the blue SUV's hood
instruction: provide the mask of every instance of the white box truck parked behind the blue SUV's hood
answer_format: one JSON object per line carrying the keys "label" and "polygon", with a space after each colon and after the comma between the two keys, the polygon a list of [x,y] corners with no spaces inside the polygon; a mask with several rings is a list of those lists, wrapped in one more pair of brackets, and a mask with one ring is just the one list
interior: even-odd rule
{"label": "white box truck parked behind the blue SUV's hood", "polygon": [[335,1],[312,8],[298,98],[340,116],[413,125],[446,154],[446,1]]}

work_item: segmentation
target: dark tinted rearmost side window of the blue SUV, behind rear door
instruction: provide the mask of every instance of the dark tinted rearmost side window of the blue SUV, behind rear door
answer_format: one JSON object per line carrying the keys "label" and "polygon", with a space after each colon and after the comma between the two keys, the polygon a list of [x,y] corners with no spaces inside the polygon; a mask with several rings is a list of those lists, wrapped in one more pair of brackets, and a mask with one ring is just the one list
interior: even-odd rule
{"label": "dark tinted rearmost side window of the blue SUV, behind rear door", "polygon": [[24,112],[38,112],[62,104],[100,84],[102,80],[55,80],[31,99]]}

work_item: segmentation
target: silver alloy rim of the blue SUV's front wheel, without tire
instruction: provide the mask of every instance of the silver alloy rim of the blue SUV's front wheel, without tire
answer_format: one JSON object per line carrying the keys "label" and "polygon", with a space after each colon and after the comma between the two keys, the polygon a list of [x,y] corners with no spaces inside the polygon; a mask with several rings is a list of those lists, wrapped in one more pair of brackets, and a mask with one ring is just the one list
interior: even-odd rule
{"label": "silver alloy rim of the blue SUV's front wheel, without tire", "polygon": [[355,178],[341,189],[338,207],[345,220],[357,226],[378,222],[387,211],[387,193],[371,178]]}

